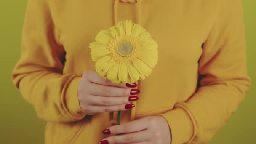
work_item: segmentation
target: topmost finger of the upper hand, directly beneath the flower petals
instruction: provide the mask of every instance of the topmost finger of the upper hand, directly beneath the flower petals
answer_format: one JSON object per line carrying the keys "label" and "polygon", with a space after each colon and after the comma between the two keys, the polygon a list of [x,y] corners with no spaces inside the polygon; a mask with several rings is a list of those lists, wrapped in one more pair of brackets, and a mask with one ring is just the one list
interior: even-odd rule
{"label": "topmost finger of the upper hand, directly beneath the flower petals", "polygon": [[112,83],[110,80],[104,79],[104,77],[101,77],[96,71],[94,70],[88,70],[87,71],[87,78],[89,81],[93,83],[97,83],[100,85],[109,85],[109,86],[115,86],[120,88],[128,88],[126,84],[116,84]]}

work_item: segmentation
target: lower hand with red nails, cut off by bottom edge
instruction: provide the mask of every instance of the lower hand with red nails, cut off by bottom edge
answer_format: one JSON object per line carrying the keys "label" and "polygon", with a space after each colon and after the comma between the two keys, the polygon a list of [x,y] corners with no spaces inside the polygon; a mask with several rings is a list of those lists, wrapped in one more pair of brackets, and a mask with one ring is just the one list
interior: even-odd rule
{"label": "lower hand with red nails, cut off by bottom edge", "polygon": [[131,122],[114,125],[102,131],[112,134],[99,144],[170,144],[171,133],[164,117],[147,116]]}

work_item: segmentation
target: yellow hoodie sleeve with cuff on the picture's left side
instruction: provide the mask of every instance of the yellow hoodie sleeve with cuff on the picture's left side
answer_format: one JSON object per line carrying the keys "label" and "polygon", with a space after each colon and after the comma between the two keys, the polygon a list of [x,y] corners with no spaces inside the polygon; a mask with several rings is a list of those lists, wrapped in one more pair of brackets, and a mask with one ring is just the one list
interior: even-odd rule
{"label": "yellow hoodie sleeve with cuff on the picture's left side", "polygon": [[65,51],[57,42],[47,0],[29,0],[21,40],[21,58],[12,72],[14,85],[35,107],[39,118],[51,122],[82,119],[77,89],[80,77],[62,74]]}

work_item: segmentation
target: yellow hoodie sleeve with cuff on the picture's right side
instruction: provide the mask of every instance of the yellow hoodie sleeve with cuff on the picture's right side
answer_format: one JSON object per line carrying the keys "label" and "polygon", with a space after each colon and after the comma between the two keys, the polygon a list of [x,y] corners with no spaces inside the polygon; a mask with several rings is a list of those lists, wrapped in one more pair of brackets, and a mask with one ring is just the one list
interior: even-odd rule
{"label": "yellow hoodie sleeve with cuff on the picture's right side", "polygon": [[224,126],[248,91],[242,0],[220,0],[219,11],[199,61],[197,92],[161,114],[172,144],[206,144]]}

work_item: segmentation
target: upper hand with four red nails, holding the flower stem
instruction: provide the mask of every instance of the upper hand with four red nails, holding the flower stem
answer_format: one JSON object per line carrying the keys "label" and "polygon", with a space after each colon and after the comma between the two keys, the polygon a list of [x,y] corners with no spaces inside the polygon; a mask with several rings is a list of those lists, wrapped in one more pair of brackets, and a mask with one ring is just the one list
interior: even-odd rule
{"label": "upper hand with four red nails, holding the flower stem", "polygon": [[94,70],[83,73],[78,87],[78,99],[81,109],[87,115],[101,112],[124,111],[135,105],[131,104],[139,98],[137,85],[115,84],[99,76]]}

